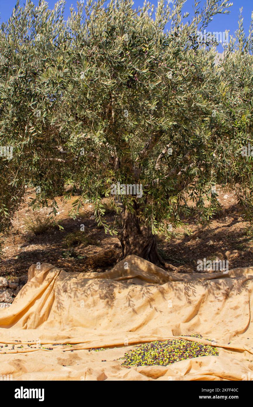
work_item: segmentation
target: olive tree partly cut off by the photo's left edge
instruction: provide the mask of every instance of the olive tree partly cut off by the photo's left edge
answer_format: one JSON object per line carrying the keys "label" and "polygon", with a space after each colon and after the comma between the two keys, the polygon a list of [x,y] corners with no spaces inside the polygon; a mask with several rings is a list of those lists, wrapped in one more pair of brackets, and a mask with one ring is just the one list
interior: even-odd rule
{"label": "olive tree partly cut off by the photo's left edge", "polygon": [[[0,30],[0,232],[11,226],[15,211],[23,201],[26,186],[43,184],[43,197],[51,198],[66,176],[45,160],[52,147],[50,139],[58,128],[54,117],[57,81],[50,87],[39,78],[58,58],[58,44],[64,35],[63,7],[54,11],[47,3],[35,7],[19,2],[8,23]],[[53,90],[54,89],[54,90]],[[45,182],[44,182],[45,179]],[[34,183],[34,184],[33,184]],[[41,198],[41,204],[47,204]]]}

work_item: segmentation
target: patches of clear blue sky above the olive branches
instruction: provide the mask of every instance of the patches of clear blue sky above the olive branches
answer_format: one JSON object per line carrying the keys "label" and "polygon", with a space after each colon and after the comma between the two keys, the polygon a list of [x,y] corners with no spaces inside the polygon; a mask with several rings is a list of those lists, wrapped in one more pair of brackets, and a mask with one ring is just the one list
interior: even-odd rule
{"label": "patches of clear blue sky above the olive branches", "polygon": [[[20,0],[20,4],[24,4],[25,0]],[[229,2],[229,1],[228,1]],[[230,0],[232,2],[232,0]],[[38,4],[38,0],[34,0],[35,4]],[[50,8],[53,8],[55,0],[48,0],[48,4]],[[157,0],[152,1],[151,3],[157,4]],[[187,0],[186,4],[184,5],[184,11],[189,11],[192,13],[192,4],[194,0]],[[201,0],[201,5],[205,3],[204,0]],[[0,22],[7,21],[12,13],[13,7],[15,7],[16,0],[0,0]],[[76,0],[67,0],[66,1],[66,10],[65,15],[66,18],[69,14],[69,7],[71,4],[76,4]],[[134,2],[135,7],[141,6],[143,4],[143,0],[136,0]],[[249,24],[251,21],[251,13],[253,11],[253,1],[252,0],[234,0],[233,6],[230,8],[229,15],[216,15],[214,20],[210,23],[208,31],[225,31],[229,30],[230,34],[233,34],[234,31],[238,28],[238,15],[239,9],[243,7],[243,18],[244,18],[244,30],[248,32]],[[220,46],[219,46],[220,47]],[[221,49],[219,48],[219,51]]]}

